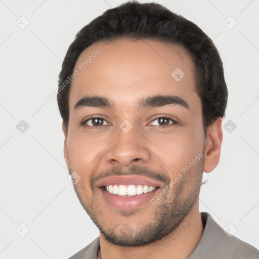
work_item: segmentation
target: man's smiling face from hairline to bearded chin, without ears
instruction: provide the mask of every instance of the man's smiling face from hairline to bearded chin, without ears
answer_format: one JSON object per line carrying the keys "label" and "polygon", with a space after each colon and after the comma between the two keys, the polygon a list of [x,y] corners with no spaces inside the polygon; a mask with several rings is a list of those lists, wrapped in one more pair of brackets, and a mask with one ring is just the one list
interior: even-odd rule
{"label": "man's smiling face from hairline to bearded chin, without ears", "polygon": [[65,158],[82,206],[111,243],[161,239],[198,206],[205,137],[192,58],[121,39],[85,49],[75,69]]}

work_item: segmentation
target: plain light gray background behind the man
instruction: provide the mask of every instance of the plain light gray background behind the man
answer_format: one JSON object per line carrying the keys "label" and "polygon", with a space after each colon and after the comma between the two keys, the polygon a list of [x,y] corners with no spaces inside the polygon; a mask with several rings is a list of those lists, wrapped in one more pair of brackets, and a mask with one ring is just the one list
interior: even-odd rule
{"label": "plain light gray background behind the man", "polygon": [[[224,124],[237,127],[230,121],[224,128],[221,161],[205,175],[200,211],[259,248],[259,1],[156,2],[196,23],[224,63]],[[67,179],[62,120],[47,95],[76,32],[121,3],[0,0],[0,258],[68,258],[99,234]],[[16,127],[21,120],[29,125],[24,133]],[[30,230],[25,237],[22,223]]]}

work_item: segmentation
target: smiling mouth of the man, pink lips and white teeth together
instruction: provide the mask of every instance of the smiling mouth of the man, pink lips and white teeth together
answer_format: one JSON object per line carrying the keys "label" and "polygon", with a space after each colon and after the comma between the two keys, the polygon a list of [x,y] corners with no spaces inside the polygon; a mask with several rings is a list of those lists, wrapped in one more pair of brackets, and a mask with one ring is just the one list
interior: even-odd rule
{"label": "smiling mouth of the man, pink lips and white teeth together", "polygon": [[113,176],[99,182],[98,189],[109,208],[132,210],[152,205],[160,183],[140,176]]}

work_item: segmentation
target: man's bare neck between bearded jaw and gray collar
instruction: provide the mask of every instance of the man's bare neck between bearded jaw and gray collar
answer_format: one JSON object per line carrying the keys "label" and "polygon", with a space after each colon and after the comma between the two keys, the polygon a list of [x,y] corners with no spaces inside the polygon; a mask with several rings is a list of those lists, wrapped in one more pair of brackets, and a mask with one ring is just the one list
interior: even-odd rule
{"label": "man's bare neck between bearded jaw and gray collar", "polygon": [[198,245],[203,233],[198,201],[178,228],[151,244],[138,247],[122,247],[108,242],[100,233],[100,259],[186,259]]}

